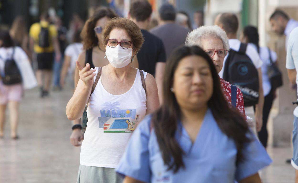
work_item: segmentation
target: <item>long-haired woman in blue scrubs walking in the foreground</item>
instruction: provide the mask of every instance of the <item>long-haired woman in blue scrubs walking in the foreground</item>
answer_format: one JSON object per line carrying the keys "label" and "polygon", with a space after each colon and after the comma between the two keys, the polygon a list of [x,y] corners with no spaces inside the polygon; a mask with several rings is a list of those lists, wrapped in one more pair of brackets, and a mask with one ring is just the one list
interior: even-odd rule
{"label": "long-haired woman in blue scrubs walking in the foreground", "polygon": [[124,183],[260,183],[271,163],[229,108],[209,56],[181,47],[167,61],[164,103],[136,128],[116,171]]}

